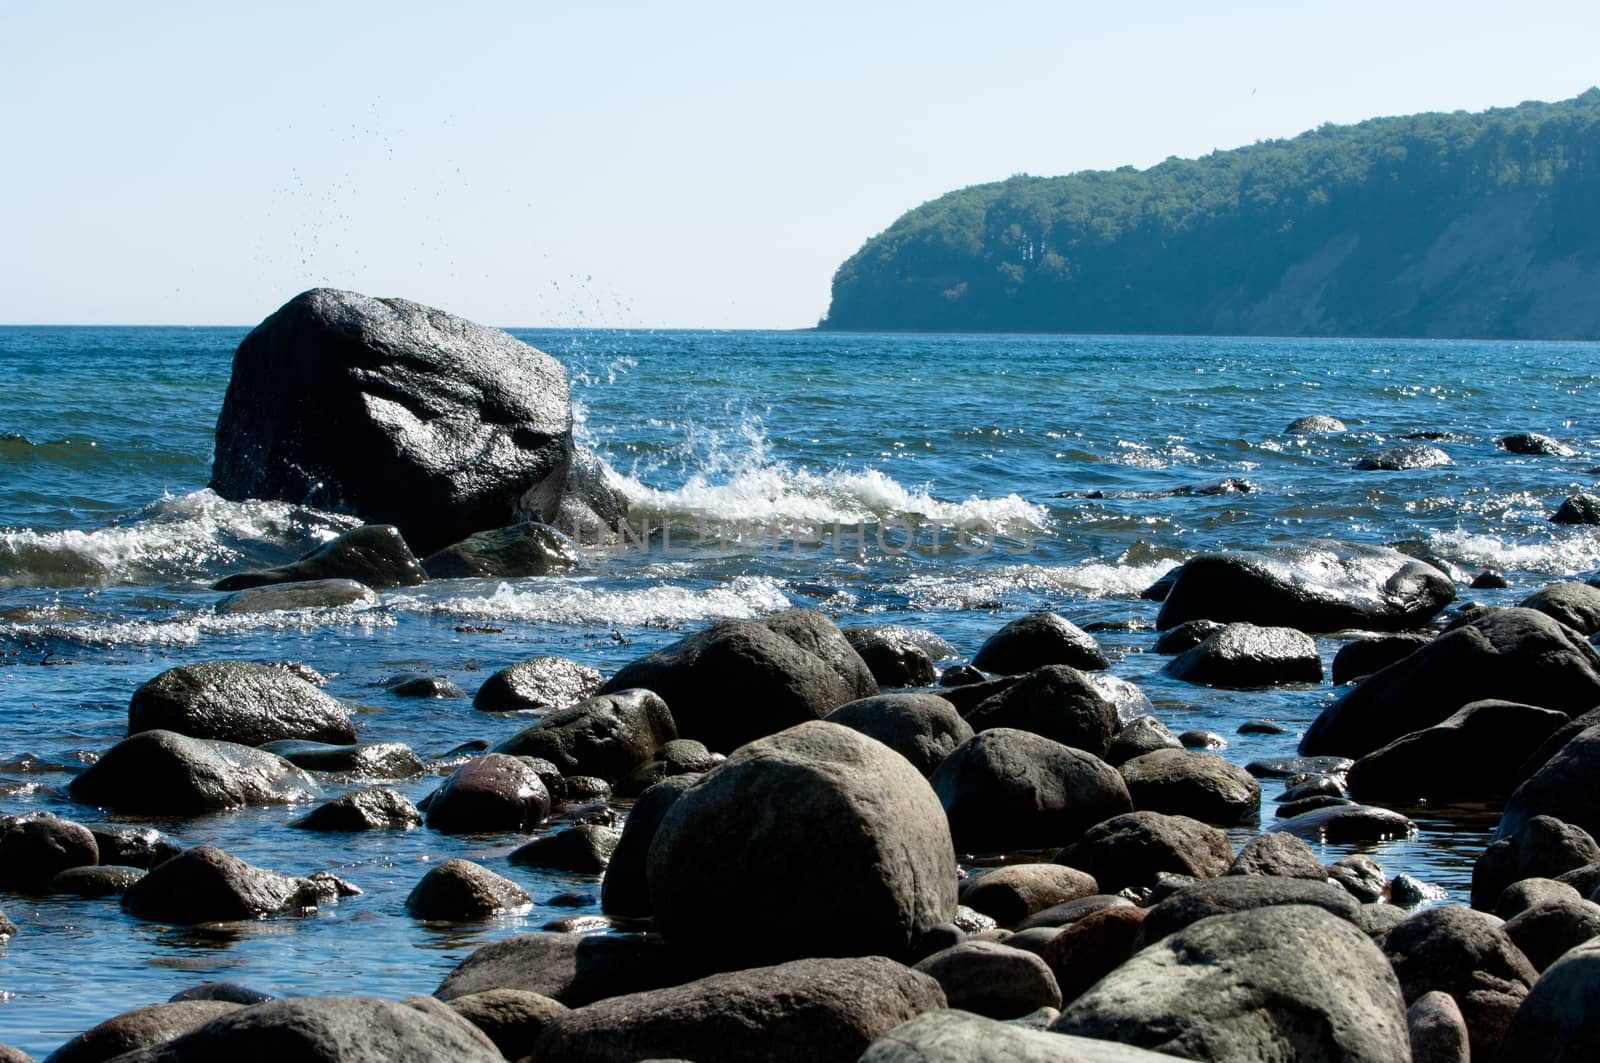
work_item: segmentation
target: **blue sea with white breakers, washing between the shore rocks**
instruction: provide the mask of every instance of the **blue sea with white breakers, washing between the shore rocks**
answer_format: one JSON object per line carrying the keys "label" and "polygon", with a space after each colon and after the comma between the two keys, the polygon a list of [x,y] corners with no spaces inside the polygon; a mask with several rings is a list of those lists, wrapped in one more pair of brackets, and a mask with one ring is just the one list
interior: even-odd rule
{"label": "blue sea with white breakers, washing between the shore rocks", "polygon": [[[1112,674],[1176,733],[1238,764],[1291,756],[1328,682],[1221,690],[1176,682],[1139,592],[1197,552],[1339,540],[1446,565],[1459,600],[1515,604],[1600,565],[1600,532],[1549,520],[1600,475],[1600,346],[1392,339],[510,330],[560,360],[576,432],[632,499],[635,535],[528,580],[386,591],[378,607],[219,616],[210,584],[293,560],[354,527],[206,488],[213,431],[248,328],[0,328],[0,815],[154,824],[363,893],[312,916],[173,927],[115,900],[0,893],[0,1042],[46,1055],[126,1009],[227,980],[274,994],[432,993],[474,948],[597,914],[590,877],[514,868],[518,836],[291,831],[298,808],[118,818],[66,796],[126,733],[144,680],[203,660],[299,661],[354,708],[363,740],[405,741],[434,789],[462,743],[528,719],[400,698],[402,672],[470,693],[554,653],[610,672],[725,618],[803,605],[840,624],[933,631],[968,660],[1050,608],[1091,631]],[[293,386],[293,383],[290,383]],[[1286,431],[1304,415],[1346,432]],[[1542,432],[1570,455],[1498,440]],[[1450,464],[1357,471],[1424,439]],[[1509,588],[1472,591],[1485,568]],[[1325,664],[1352,637],[1318,637]],[[1248,719],[1282,735],[1240,735]],[[358,783],[326,780],[326,796]],[[1262,824],[1282,789],[1264,783]],[[1494,826],[1485,808],[1403,808],[1411,839],[1323,845],[1464,903]],[[549,829],[555,829],[558,823]],[[1234,831],[1242,842],[1254,828]],[[466,856],[522,882],[528,911],[427,924],[406,893]],[[1048,858],[1048,856],[1046,856]],[[549,905],[578,893],[576,908]],[[818,905],[829,898],[819,897]]]}

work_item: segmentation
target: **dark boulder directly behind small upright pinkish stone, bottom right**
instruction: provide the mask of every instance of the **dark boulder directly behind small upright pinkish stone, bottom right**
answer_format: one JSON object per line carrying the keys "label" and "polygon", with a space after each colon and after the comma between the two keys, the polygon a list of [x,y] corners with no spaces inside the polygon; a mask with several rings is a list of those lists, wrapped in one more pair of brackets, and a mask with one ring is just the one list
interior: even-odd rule
{"label": "dark boulder directly behind small upright pinkish stone, bottom right", "polygon": [[1427,908],[1384,938],[1406,1002],[1440,991],[1467,1021],[1472,1058],[1499,1058],[1501,1039],[1539,977],[1506,932],[1456,905]]}

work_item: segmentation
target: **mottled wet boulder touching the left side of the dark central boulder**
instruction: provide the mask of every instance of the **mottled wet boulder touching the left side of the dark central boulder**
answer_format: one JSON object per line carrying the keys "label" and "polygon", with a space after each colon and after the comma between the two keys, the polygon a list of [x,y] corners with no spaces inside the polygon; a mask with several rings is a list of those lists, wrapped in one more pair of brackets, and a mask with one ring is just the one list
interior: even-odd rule
{"label": "mottled wet boulder touching the left side of the dark central boulder", "polygon": [[494,752],[541,757],[562,775],[626,778],[678,736],[667,703],[650,690],[584,698],[494,746]]}

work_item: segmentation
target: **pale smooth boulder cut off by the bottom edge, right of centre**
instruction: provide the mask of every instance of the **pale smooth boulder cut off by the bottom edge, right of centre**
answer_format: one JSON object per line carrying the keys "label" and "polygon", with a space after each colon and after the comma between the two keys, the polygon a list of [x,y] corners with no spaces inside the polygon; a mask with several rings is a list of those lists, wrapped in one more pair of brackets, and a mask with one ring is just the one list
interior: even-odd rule
{"label": "pale smooth boulder cut off by the bottom edge, right of centre", "polygon": [[861,1063],[1165,1063],[1170,1055],[1067,1037],[957,1009],[923,1012],[872,1042]]}

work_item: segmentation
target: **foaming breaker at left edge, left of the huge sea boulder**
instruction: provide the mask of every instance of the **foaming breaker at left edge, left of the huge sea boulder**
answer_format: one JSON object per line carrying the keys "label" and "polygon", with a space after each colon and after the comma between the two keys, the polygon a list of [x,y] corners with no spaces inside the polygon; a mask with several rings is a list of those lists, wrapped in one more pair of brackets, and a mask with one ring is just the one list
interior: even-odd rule
{"label": "foaming breaker at left edge, left of the huge sea boulder", "polygon": [[0,532],[0,588],[83,588],[205,580],[245,562],[290,560],[358,523],[288,503],[168,495],[128,523],[88,532]]}

